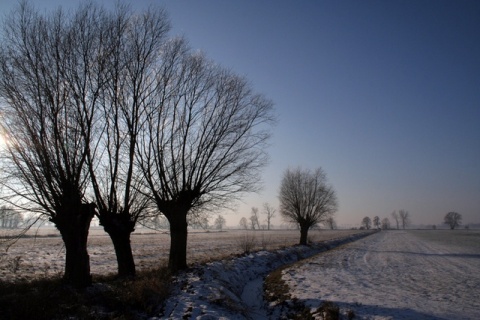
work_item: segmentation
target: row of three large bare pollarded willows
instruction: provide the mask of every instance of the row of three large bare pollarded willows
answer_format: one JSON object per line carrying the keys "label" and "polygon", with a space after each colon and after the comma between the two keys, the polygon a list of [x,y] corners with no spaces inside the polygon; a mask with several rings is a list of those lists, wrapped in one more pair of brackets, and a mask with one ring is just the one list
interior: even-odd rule
{"label": "row of three large bare pollarded willows", "polygon": [[91,282],[96,215],[121,277],[135,275],[138,221],[169,223],[169,268],[186,267],[188,217],[257,190],[274,121],[249,83],[169,38],[162,9],[86,4],[40,14],[22,2],[0,44],[3,200],[61,233],[64,278]]}

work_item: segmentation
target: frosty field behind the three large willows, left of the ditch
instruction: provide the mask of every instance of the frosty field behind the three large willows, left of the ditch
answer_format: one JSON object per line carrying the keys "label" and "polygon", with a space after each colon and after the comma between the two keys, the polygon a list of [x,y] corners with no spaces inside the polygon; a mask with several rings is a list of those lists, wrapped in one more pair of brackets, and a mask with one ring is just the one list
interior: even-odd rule
{"label": "frosty field behind the three large willows, left of the ditch", "polygon": [[[355,230],[312,230],[310,238],[319,242],[355,234]],[[188,238],[189,265],[224,259],[244,252],[242,244],[253,241],[252,250],[275,250],[292,246],[299,241],[298,230],[223,232],[191,231]],[[138,228],[131,237],[132,250],[138,270],[166,264],[170,247],[167,232],[153,232]],[[0,247],[0,249],[2,249]],[[88,251],[91,273],[107,275],[116,272],[116,257],[112,242],[102,228],[92,228]],[[15,281],[49,277],[63,273],[65,248],[54,228],[32,230],[29,237],[19,239],[14,245],[0,251],[0,278]]]}

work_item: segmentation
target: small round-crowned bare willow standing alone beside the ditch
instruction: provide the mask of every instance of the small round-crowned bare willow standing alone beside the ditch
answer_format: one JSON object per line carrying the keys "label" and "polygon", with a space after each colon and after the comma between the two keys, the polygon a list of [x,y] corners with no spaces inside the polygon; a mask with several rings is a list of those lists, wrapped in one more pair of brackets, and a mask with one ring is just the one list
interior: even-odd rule
{"label": "small round-crowned bare willow standing alone beside the ditch", "polygon": [[330,218],[337,197],[321,168],[315,171],[287,169],[280,185],[280,214],[300,228],[300,244],[307,244],[308,230]]}

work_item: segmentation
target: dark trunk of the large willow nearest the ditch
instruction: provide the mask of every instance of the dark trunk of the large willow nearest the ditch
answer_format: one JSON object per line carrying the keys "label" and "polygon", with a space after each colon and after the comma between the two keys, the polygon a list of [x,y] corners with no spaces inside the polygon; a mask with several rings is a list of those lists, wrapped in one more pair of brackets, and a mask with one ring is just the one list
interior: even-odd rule
{"label": "dark trunk of the large willow nearest the ditch", "polygon": [[168,268],[175,273],[187,268],[187,212],[176,212],[168,221],[170,223]]}

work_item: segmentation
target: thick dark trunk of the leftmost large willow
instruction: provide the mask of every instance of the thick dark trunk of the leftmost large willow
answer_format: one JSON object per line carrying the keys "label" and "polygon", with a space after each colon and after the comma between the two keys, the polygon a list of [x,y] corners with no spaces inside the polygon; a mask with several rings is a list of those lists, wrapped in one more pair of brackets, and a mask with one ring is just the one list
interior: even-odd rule
{"label": "thick dark trunk of the leftmost large willow", "polygon": [[52,219],[65,243],[66,259],[63,279],[77,289],[83,289],[92,284],[87,239],[93,215],[93,207],[81,205],[69,212],[62,212]]}

